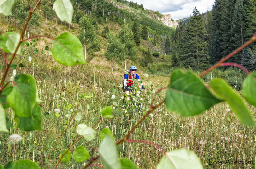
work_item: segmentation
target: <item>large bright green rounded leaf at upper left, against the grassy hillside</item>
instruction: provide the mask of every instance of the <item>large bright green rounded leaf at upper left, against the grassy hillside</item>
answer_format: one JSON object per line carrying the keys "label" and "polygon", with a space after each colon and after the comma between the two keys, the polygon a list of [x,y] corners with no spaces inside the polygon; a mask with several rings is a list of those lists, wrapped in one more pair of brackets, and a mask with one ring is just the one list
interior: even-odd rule
{"label": "large bright green rounded leaf at upper left, against the grassy hillside", "polygon": [[55,40],[52,41],[52,55],[57,62],[66,66],[86,63],[83,46],[76,36],[63,33]]}

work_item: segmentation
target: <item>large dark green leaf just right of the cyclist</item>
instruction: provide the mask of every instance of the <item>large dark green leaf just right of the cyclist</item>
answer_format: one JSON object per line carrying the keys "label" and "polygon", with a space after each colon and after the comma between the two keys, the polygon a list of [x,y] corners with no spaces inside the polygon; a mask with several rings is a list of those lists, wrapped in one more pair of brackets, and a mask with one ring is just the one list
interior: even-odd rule
{"label": "large dark green leaf just right of the cyclist", "polygon": [[182,116],[194,116],[220,102],[192,72],[175,70],[166,90],[166,108]]}

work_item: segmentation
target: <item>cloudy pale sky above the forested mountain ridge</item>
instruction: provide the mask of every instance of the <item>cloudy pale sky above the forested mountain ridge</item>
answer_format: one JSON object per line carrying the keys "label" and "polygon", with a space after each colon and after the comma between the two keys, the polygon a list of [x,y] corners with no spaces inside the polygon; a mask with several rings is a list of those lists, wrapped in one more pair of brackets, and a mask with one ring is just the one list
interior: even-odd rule
{"label": "cloudy pale sky above the forested mountain ridge", "polygon": [[171,14],[174,20],[190,17],[194,7],[200,13],[212,9],[215,0],[132,0],[142,4],[144,8],[159,11],[161,14]]}

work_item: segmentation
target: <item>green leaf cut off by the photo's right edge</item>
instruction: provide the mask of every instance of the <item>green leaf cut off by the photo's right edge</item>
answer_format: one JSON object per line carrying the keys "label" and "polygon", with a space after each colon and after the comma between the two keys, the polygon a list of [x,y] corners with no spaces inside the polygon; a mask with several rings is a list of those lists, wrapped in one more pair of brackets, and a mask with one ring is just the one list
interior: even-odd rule
{"label": "green leaf cut off by the photo's right edge", "polygon": [[243,83],[242,92],[246,101],[256,107],[256,72],[249,74]]}

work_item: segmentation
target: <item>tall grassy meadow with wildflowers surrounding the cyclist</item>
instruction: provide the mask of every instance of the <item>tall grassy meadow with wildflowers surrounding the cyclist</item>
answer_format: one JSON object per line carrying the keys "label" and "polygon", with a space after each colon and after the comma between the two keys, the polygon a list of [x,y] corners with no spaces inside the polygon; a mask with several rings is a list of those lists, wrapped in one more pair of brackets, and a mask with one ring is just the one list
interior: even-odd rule
{"label": "tall grassy meadow with wildflowers surrounding the cyclist", "polygon": [[[101,143],[100,131],[109,128],[115,142],[123,138],[147,112],[149,103],[159,88],[169,83],[169,77],[152,74],[147,76],[146,71],[138,71],[137,74],[144,85],[148,86],[141,92],[140,98],[143,101],[141,111],[138,112],[136,109],[123,107],[124,94],[119,88],[124,75],[122,65],[112,73],[110,64],[103,57],[94,57],[88,65],[74,67],[60,65],[50,55],[37,55],[32,57],[31,62],[28,57],[23,59],[25,66],[17,67],[16,71],[17,74],[31,74],[36,79],[38,95],[43,101],[40,103],[42,131],[20,130],[13,123],[12,109],[6,109],[13,127],[9,129],[10,133],[2,132],[0,136],[2,165],[11,160],[31,159],[41,166],[44,159],[44,168],[54,168],[59,161],[60,151],[67,149],[79,137],[76,125],[81,123],[93,127],[97,132],[96,138],[92,141],[77,141],[71,151],[83,145],[89,154],[95,157],[98,154],[93,148]],[[19,62],[19,58],[14,60],[14,64],[15,62]],[[92,97],[83,98],[84,94]],[[164,98],[165,91],[162,91],[156,96],[154,104]],[[114,118],[102,119],[101,109],[112,104]],[[256,108],[249,108],[252,116],[256,118]],[[59,137],[69,125],[73,113],[77,112],[81,112],[81,119],[73,119],[70,127]],[[22,140],[17,144],[11,143],[10,134],[20,134]],[[163,104],[136,128],[129,139],[155,143],[165,152],[187,148],[197,154],[204,168],[256,168],[255,130],[240,124],[228,104],[224,102],[201,115],[192,117],[169,112]],[[56,141],[58,143],[52,151]],[[146,142],[124,142],[119,144],[117,149],[120,158],[129,158],[138,168],[156,168],[163,156],[159,149]],[[51,151],[48,160],[45,160]],[[83,168],[88,162],[89,159],[78,163],[71,156],[69,163],[61,162],[58,168]],[[100,160],[95,162],[97,163],[101,163]]]}

